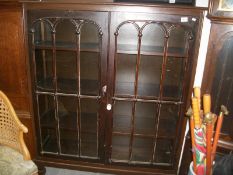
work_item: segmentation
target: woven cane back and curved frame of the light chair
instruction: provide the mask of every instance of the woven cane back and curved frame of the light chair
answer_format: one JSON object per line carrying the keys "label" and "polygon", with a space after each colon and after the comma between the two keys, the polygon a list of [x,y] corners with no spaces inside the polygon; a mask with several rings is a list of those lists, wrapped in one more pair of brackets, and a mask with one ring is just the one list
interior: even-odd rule
{"label": "woven cane back and curved frame of the light chair", "polygon": [[19,151],[25,160],[30,160],[29,151],[23,140],[28,129],[18,119],[11,102],[0,91],[0,144]]}

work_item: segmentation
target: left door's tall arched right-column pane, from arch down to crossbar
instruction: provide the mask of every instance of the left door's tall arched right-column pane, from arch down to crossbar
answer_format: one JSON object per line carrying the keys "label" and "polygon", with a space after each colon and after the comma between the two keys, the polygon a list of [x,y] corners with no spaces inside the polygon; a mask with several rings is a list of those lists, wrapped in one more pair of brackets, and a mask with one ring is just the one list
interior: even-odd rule
{"label": "left door's tall arched right-column pane, from arch down to crossbar", "polygon": [[[91,23],[82,25],[80,36],[80,79],[81,94],[99,94],[100,36],[97,26]],[[90,51],[90,52],[87,52]]]}

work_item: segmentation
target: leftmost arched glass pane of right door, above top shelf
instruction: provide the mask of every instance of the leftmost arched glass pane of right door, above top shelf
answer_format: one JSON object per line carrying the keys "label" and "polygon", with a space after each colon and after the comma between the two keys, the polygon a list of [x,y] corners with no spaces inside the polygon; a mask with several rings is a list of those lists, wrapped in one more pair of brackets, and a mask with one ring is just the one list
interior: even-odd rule
{"label": "leftmost arched glass pane of right door, above top shelf", "polygon": [[138,31],[133,24],[120,27],[117,36],[117,53],[137,54]]}

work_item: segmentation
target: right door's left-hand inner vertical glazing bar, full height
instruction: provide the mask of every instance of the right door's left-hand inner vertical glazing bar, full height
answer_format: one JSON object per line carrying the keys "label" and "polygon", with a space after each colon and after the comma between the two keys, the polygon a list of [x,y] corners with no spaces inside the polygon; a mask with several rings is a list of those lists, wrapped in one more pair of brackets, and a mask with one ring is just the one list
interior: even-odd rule
{"label": "right door's left-hand inner vertical glazing bar, full height", "polygon": [[132,159],[132,149],[133,149],[133,141],[134,141],[134,123],[135,123],[135,111],[136,111],[136,103],[138,96],[138,75],[139,75],[139,66],[140,66],[140,58],[141,58],[141,41],[142,41],[142,30],[139,28],[137,24],[135,24],[138,30],[138,46],[137,46],[137,60],[135,67],[135,82],[134,82],[134,101],[132,107],[132,118],[131,118],[131,134],[130,134],[130,144],[129,144],[129,162]]}

